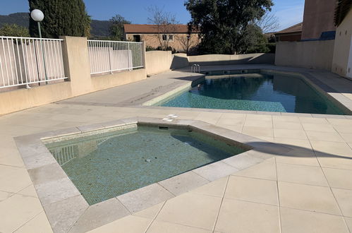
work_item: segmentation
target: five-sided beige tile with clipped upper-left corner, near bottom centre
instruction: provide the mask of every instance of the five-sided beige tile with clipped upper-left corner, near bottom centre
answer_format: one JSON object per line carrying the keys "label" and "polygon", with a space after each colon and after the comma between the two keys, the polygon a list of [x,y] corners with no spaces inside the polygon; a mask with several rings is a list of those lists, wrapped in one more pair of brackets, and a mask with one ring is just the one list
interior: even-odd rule
{"label": "five-sided beige tile with clipped upper-left corner, near bottom centre", "polygon": [[212,230],[221,198],[183,193],[166,201],[156,220]]}

